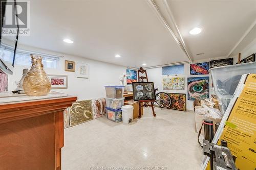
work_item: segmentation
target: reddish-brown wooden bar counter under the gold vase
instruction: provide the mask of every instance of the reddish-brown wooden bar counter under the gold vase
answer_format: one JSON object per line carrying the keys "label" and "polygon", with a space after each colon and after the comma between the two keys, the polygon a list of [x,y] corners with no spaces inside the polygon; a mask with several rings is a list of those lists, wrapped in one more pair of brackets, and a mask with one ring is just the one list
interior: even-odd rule
{"label": "reddish-brown wooden bar counter under the gold vase", "polygon": [[39,98],[15,102],[1,102],[11,97],[0,98],[1,170],[61,169],[63,110],[77,97]]}

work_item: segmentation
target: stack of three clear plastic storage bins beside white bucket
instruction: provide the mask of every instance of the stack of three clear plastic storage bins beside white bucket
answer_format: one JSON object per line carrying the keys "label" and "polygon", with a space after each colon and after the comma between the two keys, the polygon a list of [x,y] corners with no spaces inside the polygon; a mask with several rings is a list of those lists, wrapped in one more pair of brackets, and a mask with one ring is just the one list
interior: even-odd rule
{"label": "stack of three clear plastic storage bins beside white bucket", "polygon": [[124,103],[124,86],[105,86],[106,90],[106,116],[114,122],[122,121],[121,107]]}

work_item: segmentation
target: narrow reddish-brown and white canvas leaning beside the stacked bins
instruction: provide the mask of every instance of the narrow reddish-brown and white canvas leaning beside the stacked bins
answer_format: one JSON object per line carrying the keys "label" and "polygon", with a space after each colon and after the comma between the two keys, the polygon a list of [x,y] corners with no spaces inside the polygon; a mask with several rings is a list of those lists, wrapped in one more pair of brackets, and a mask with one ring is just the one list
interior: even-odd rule
{"label": "narrow reddish-brown and white canvas leaning beside the stacked bins", "polygon": [[93,118],[98,118],[106,114],[106,100],[104,98],[93,99],[92,100],[93,107]]}

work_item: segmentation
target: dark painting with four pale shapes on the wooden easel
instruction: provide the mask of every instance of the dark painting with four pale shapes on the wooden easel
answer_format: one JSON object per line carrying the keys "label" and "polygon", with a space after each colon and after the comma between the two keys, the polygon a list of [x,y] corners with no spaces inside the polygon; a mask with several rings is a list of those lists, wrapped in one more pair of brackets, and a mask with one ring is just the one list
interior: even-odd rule
{"label": "dark painting with four pale shapes on the wooden easel", "polygon": [[133,100],[156,100],[153,82],[133,82]]}

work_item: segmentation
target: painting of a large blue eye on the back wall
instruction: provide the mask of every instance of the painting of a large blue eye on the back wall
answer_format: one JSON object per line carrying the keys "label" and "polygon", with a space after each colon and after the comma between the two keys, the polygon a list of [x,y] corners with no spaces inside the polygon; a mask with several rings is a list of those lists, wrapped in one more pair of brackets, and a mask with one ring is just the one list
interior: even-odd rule
{"label": "painting of a large blue eye on the back wall", "polygon": [[187,78],[187,100],[194,101],[196,97],[209,97],[209,77]]}

